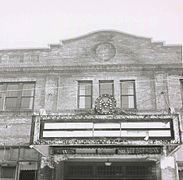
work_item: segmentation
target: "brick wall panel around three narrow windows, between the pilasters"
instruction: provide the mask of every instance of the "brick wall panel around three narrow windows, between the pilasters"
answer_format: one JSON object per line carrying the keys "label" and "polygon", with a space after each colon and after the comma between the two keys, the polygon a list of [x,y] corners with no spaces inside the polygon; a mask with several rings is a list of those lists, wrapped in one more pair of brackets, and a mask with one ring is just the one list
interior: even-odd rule
{"label": "brick wall panel around three narrow windows, between the pilasters", "polygon": [[[136,98],[138,110],[156,110],[154,80],[146,75],[141,76],[138,72],[78,72],[60,76],[58,93],[58,110],[77,109],[77,81],[93,81],[93,107],[99,96],[99,80],[114,80],[114,96],[117,107],[120,104],[120,80],[136,81]],[[164,107],[163,107],[164,108]]]}

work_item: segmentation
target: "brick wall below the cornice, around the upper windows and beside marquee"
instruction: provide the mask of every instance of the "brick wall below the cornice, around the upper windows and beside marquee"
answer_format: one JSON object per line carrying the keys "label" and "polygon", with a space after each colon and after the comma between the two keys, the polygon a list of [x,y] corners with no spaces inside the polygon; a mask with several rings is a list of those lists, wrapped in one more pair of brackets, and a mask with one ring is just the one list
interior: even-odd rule
{"label": "brick wall below the cornice, around the upper windows and beside marquee", "polygon": [[[4,75],[1,81],[23,81],[30,79],[36,81],[34,112],[45,108],[48,113],[63,112],[64,110],[77,109],[77,81],[93,81],[93,107],[99,96],[99,80],[114,80],[115,99],[120,107],[120,80],[130,79],[136,81],[136,102],[138,111],[156,112],[167,111],[168,105],[176,111],[181,111],[181,76],[164,72],[152,73],[151,71],[126,71],[126,72],[73,72],[73,73],[33,73]],[[155,79],[154,79],[155,78]],[[166,79],[168,78],[168,81]],[[164,94],[161,94],[164,92]],[[32,113],[26,112],[19,115],[1,112],[0,144],[28,144],[30,140]]]}

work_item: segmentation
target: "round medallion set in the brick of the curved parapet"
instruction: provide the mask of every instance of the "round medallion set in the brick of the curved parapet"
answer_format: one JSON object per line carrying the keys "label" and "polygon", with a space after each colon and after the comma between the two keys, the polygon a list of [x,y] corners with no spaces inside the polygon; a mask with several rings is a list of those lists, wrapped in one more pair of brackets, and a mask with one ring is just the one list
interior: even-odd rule
{"label": "round medallion set in the brick of the curved parapet", "polygon": [[108,61],[115,56],[116,49],[111,43],[103,43],[97,45],[95,53],[98,59]]}

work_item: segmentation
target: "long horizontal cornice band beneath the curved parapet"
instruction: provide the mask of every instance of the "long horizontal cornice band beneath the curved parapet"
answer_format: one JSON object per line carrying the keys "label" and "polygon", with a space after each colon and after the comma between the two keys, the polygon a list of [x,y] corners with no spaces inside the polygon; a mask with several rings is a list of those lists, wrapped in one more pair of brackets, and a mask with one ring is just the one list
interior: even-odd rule
{"label": "long horizontal cornice band beneath the curved parapet", "polygon": [[11,65],[11,66],[0,66],[0,72],[122,72],[122,71],[158,71],[158,70],[183,70],[182,64],[105,64],[105,65],[88,65],[88,66],[46,66],[40,65]]}

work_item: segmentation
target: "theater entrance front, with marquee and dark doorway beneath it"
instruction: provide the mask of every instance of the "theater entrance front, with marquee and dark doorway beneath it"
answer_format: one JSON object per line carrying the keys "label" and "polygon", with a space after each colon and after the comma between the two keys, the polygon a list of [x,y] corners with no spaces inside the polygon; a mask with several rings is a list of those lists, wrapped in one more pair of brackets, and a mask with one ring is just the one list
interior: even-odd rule
{"label": "theater entrance front, with marquee and dark doorway beneath it", "polygon": [[[129,115],[128,121],[126,118],[35,116],[34,131],[40,134],[34,136],[33,142],[46,154],[41,160],[42,176],[47,178],[49,174],[46,180],[174,180],[175,164],[168,156],[172,150],[168,141],[179,139],[173,133],[177,119],[158,115],[149,115],[148,119]],[[141,136],[141,132],[146,133]],[[149,136],[151,133],[156,137]]]}

